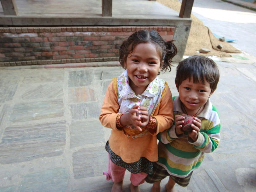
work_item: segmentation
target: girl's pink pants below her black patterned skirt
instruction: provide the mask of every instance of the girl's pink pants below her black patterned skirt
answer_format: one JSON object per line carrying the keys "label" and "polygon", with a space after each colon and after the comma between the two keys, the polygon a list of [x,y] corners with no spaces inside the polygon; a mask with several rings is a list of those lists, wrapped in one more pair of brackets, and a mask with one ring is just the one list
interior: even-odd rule
{"label": "girl's pink pants below her black patterned skirt", "polygon": [[[114,164],[110,160],[110,156],[109,156],[108,173],[103,171],[103,175],[107,176],[106,178],[107,181],[111,180],[114,183],[119,183],[125,177],[125,171],[126,171],[126,168],[123,168]],[[138,186],[145,182],[144,178],[146,178],[146,176],[147,176],[146,173],[137,173],[137,174],[131,173],[130,181],[134,186]]]}

